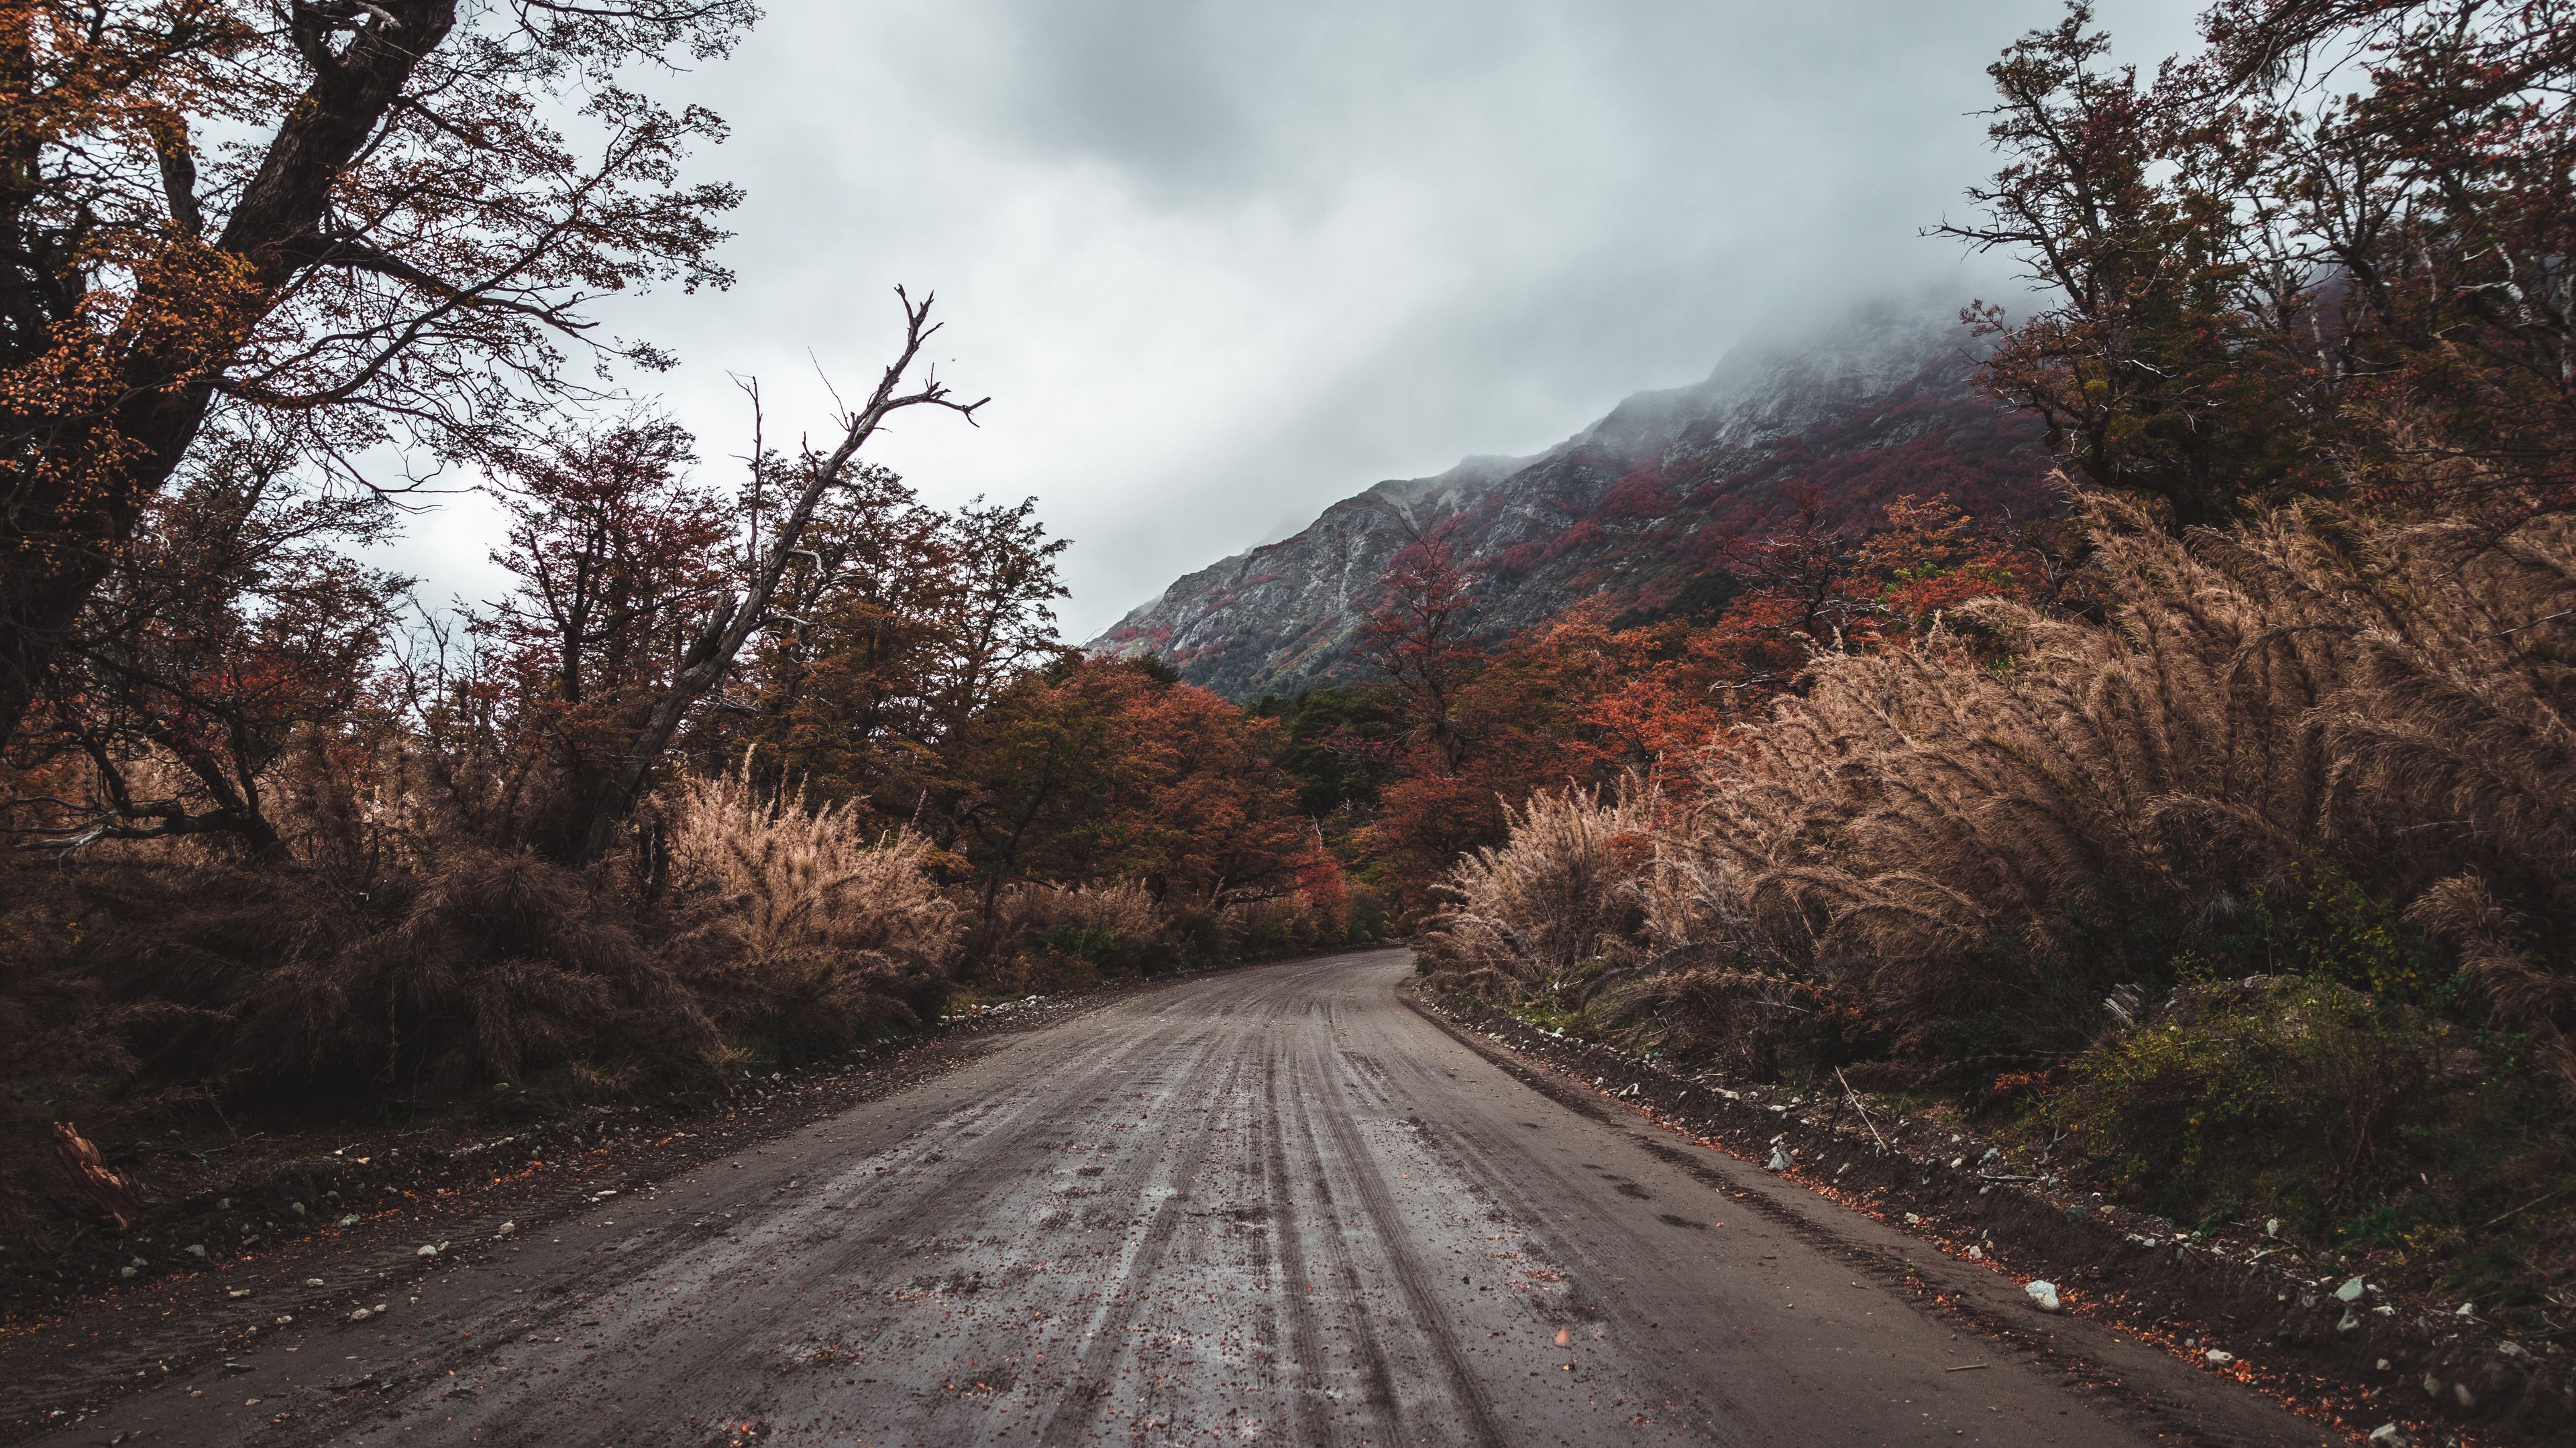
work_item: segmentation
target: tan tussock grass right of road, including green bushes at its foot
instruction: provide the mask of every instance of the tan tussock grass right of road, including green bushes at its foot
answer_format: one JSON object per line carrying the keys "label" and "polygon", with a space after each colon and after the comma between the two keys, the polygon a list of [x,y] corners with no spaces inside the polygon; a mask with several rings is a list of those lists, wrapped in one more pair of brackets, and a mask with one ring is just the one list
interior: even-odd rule
{"label": "tan tussock grass right of road, including green bushes at its foot", "polygon": [[[2576,520],[2079,518],[2089,608],[1826,654],[1687,799],[1533,801],[1450,873],[1435,969],[1744,1069],[2076,1082],[2074,1149],[2174,1206],[2463,1252],[2576,1162]],[[2236,979],[2287,984],[2130,1033]],[[2269,1105],[2174,1108],[2210,1082]],[[2488,1275],[2537,1301],[2568,1224]]]}

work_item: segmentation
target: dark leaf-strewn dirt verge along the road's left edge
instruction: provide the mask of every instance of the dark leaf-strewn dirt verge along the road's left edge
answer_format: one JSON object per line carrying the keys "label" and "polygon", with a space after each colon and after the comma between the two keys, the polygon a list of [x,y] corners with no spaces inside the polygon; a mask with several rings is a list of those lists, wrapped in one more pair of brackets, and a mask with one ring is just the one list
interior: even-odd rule
{"label": "dark leaf-strewn dirt verge along the road's left edge", "polygon": [[[1198,979],[1198,976],[1180,976]],[[0,1443],[77,1422],[131,1386],[250,1348],[291,1319],[399,1301],[474,1242],[556,1219],[938,1080],[1002,1041],[1175,982],[1115,982],[945,1020],[732,1092],[412,1129],[250,1126],[237,1152],[157,1152],[147,1219],[0,1252]],[[124,1154],[134,1165],[134,1154]],[[204,1252],[198,1252],[204,1250]],[[137,1368],[137,1363],[147,1363]]]}

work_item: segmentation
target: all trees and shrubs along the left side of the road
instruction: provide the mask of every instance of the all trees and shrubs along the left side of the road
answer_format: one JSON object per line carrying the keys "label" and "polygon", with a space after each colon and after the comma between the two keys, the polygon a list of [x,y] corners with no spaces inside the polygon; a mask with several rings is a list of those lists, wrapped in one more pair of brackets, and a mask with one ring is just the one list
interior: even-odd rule
{"label": "all trees and shrubs along the left side of the road", "polygon": [[[1028,502],[866,461],[981,407],[927,296],[793,448],[750,386],[721,479],[636,399],[672,358],[587,307],[724,286],[739,201],[649,88],[752,18],[0,5],[0,1234],[245,1113],[708,1090],[1373,935],[1275,721],[1064,647]],[[422,487],[505,508],[502,598],[361,562]]]}

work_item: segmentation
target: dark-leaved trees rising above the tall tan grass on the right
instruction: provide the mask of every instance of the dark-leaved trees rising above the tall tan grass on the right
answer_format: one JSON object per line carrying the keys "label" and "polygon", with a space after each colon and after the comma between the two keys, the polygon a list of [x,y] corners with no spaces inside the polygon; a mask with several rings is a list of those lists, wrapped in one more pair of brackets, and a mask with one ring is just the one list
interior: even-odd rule
{"label": "dark-leaved trees rising above the tall tan grass on the right", "polygon": [[2177,526],[2354,484],[2568,482],[2576,10],[2223,0],[2110,67],[2089,5],[1989,70],[2007,162],[1942,227],[2027,265],[1991,384]]}

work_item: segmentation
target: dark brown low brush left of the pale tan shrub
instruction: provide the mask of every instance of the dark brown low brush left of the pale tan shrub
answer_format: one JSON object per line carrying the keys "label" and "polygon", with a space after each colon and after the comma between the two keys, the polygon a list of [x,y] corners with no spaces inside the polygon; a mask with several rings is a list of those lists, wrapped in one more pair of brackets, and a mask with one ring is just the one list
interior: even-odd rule
{"label": "dark brown low brush left of the pale tan shrub", "polygon": [[[299,868],[21,868],[0,946],[10,1080],[173,1095],[440,1095],[569,1067],[667,1074],[714,1028],[595,873],[456,845],[348,891]],[[100,1116],[100,1113],[111,1116]]]}

